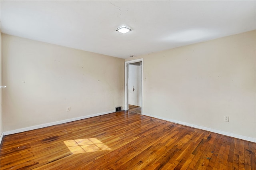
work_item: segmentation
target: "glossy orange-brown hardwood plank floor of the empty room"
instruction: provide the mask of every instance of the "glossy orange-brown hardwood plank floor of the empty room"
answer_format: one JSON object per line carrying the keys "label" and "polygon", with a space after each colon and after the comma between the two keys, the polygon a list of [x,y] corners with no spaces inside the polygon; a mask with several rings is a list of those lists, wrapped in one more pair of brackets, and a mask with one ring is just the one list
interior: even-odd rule
{"label": "glossy orange-brown hardwood plank floor of the empty room", "polygon": [[255,170],[256,143],[128,111],[4,136],[1,170]]}

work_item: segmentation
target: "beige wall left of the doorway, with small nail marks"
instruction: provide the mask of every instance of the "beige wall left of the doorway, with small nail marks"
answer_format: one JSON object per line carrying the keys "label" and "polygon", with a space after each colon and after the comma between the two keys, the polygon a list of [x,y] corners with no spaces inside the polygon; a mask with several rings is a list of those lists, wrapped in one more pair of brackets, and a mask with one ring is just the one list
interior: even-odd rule
{"label": "beige wall left of the doorway, with small nail marks", "polygon": [[6,34],[2,59],[4,131],[124,105],[124,59]]}

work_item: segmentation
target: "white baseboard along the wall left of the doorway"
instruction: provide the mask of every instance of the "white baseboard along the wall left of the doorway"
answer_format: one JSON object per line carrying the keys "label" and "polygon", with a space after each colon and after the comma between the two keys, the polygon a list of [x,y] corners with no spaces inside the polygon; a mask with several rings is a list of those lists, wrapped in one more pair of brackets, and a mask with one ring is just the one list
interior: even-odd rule
{"label": "white baseboard along the wall left of the doorway", "polygon": [[78,121],[81,119],[86,119],[86,118],[90,118],[90,117],[96,117],[96,116],[100,116],[100,115],[106,115],[108,113],[114,113],[115,111],[108,111],[108,112],[103,112],[103,113],[96,113],[93,115],[86,115],[86,116],[82,116],[82,117],[76,117],[76,118],[72,118],[72,119],[66,119],[66,120],[62,120],[62,121],[57,121],[57,122],[52,122],[52,123],[45,123],[45,124],[41,124],[41,125],[36,125],[36,126],[32,126],[32,127],[26,127],[26,128],[19,128],[16,130],[10,130],[10,131],[6,131],[3,132],[1,137],[3,135],[8,135],[8,134],[14,134],[14,133],[20,133],[20,132],[25,132],[28,130],[34,130],[34,129],[38,129],[38,128],[44,128],[44,127],[50,127],[53,125],[60,125],[62,123],[68,123],[68,122],[73,122],[73,121]]}

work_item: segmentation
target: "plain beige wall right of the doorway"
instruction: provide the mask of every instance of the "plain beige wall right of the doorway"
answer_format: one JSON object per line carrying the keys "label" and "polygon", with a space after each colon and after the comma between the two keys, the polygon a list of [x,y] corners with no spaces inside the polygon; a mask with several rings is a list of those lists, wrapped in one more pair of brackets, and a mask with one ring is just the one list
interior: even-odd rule
{"label": "plain beige wall right of the doorway", "polygon": [[144,114],[256,139],[255,49],[254,30],[136,57]]}

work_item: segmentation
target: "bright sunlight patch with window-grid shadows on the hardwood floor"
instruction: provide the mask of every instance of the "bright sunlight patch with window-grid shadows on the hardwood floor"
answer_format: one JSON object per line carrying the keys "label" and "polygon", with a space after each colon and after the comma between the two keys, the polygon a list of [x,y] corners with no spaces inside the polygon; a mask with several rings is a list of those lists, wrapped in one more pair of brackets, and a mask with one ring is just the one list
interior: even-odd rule
{"label": "bright sunlight patch with window-grid shadows on the hardwood floor", "polygon": [[111,148],[109,148],[97,138],[65,140],[64,144],[73,154],[111,150]]}

